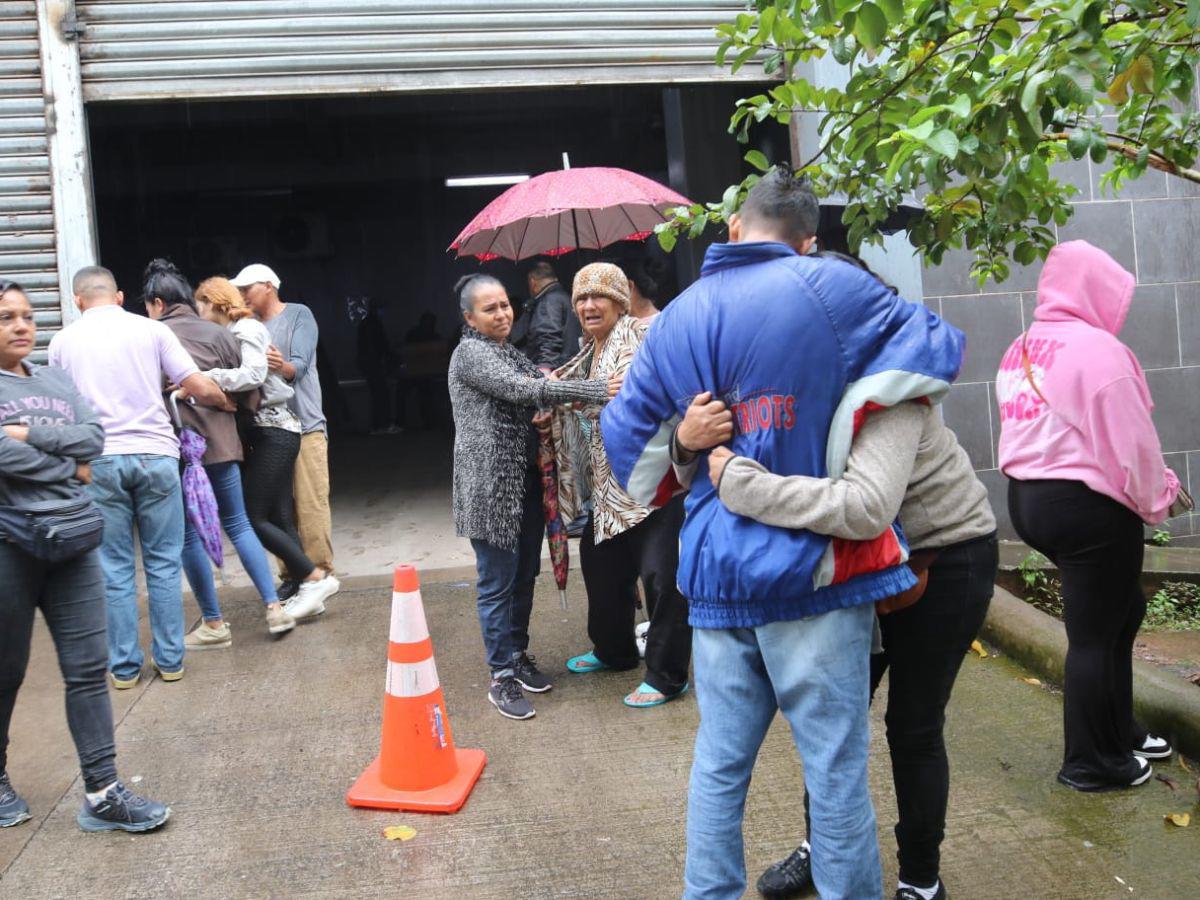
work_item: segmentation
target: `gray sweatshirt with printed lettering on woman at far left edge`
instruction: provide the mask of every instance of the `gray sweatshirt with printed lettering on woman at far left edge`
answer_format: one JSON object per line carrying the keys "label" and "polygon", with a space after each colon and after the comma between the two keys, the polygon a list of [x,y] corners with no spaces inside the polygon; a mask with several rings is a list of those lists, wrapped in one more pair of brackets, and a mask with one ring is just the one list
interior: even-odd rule
{"label": "gray sweatshirt with printed lettering on woman at far left edge", "polygon": [[25,378],[0,371],[0,425],[29,426],[28,440],[0,431],[0,505],[18,509],[82,497],[76,468],[104,449],[104,426],[71,376],[24,365]]}

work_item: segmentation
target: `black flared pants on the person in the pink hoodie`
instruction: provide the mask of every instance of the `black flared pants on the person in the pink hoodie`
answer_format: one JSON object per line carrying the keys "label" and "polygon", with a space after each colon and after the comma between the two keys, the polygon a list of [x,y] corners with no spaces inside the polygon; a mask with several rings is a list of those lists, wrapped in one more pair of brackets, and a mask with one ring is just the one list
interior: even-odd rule
{"label": "black flared pants on the person in the pink hoodie", "polygon": [[1128,784],[1133,748],[1133,642],[1146,614],[1142,523],[1081,481],[1009,481],[1008,511],[1021,539],[1058,566],[1067,662],[1061,773],[1075,781]]}

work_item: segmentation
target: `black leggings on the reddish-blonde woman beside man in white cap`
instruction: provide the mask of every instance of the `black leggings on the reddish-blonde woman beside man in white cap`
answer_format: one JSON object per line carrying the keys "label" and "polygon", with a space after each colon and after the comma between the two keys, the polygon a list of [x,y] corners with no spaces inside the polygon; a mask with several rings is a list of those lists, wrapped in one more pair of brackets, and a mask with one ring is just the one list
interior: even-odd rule
{"label": "black leggings on the reddish-blonde woman beside man in white cap", "polygon": [[268,551],[283,560],[296,581],[316,566],[305,556],[296,534],[292,500],[292,476],[300,454],[300,436],[283,428],[250,430],[242,485],[246,515]]}

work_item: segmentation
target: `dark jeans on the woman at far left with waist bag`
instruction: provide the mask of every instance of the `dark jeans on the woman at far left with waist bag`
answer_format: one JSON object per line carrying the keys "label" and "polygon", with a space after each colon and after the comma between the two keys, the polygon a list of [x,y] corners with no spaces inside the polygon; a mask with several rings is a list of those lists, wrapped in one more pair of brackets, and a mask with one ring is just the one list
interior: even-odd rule
{"label": "dark jeans on the woman at far left with waist bag", "polygon": [[34,611],[41,607],[66,683],[67,725],[84,784],[89,791],[110,785],[116,746],[100,557],[92,551],[52,566],[0,540],[0,772],[8,762],[8,725],[29,665]]}

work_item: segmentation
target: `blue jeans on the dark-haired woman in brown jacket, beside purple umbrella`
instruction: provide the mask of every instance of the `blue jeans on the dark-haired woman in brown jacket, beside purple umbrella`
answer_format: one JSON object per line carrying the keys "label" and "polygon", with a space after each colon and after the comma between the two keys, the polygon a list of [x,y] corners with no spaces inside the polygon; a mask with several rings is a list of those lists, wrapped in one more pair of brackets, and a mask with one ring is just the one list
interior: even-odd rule
{"label": "blue jeans on the dark-haired woman in brown jacket, beside purple umbrella", "polygon": [[[246,502],[241,493],[241,473],[235,462],[215,462],[204,470],[212,482],[212,493],[217,498],[217,511],[221,514],[221,529],[229,536],[246,575],[254,582],[258,595],[264,604],[274,604],[280,599],[271,578],[271,565],[266,562],[266,551],[254,534],[250,518],[246,516]],[[204,552],[200,536],[188,518],[184,526],[184,572],[192,587],[200,616],[209,622],[221,618],[221,604],[217,601],[217,588],[212,581],[212,565],[209,554]]]}

